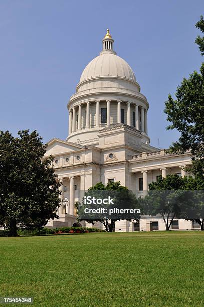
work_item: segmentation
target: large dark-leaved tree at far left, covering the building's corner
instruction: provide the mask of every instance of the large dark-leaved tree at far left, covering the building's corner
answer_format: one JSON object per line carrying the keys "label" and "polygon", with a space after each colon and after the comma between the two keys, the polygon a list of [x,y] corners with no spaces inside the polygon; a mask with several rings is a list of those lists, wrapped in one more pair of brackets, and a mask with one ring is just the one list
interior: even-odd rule
{"label": "large dark-leaved tree at far left, covering the building's corner", "polygon": [[36,131],[0,131],[0,225],[17,236],[17,229],[40,228],[57,218],[60,186],[44,158],[46,144]]}

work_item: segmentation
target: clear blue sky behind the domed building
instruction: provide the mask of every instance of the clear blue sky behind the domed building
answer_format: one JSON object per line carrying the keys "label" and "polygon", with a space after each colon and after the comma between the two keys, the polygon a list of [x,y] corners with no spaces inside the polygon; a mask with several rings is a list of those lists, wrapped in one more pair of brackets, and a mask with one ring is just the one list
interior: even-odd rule
{"label": "clear blue sky behind the domed building", "polygon": [[47,142],[68,135],[67,102],[106,29],[147,97],[151,145],[167,148],[164,102],[203,58],[194,27],[203,0],[0,1],[0,129],[37,129]]}

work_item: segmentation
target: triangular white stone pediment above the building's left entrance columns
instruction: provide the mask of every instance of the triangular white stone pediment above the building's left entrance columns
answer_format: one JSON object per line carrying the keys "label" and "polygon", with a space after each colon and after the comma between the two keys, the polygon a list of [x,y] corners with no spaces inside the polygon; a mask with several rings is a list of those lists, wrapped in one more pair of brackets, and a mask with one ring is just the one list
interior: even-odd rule
{"label": "triangular white stone pediment above the building's left entrance columns", "polygon": [[64,154],[65,152],[76,151],[84,147],[79,144],[67,142],[59,138],[53,138],[48,142],[45,156]]}

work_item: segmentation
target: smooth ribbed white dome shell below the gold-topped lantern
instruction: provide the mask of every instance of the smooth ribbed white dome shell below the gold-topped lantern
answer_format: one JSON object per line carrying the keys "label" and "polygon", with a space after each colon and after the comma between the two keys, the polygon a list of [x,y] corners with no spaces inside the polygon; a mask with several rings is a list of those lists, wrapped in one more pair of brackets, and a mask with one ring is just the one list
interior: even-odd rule
{"label": "smooth ribbed white dome shell below the gold-topped lantern", "polygon": [[136,81],[132,68],[125,60],[114,53],[101,53],[84,69],[80,82],[94,77],[122,77]]}

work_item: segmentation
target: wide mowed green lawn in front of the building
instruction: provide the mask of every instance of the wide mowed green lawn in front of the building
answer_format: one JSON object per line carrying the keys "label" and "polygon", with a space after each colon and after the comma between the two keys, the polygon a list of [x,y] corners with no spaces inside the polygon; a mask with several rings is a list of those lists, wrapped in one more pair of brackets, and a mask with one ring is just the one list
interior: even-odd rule
{"label": "wide mowed green lawn in front of the building", "polygon": [[0,296],[34,306],[204,305],[199,231],[0,238],[0,249]]}

